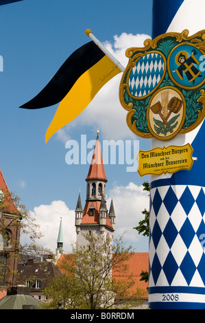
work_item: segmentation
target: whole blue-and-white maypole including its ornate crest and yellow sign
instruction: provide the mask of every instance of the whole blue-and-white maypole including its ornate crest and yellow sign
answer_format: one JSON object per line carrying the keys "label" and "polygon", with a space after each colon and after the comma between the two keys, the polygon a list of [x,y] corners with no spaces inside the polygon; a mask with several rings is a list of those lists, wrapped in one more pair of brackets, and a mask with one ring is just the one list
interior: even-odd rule
{"label": "whole blue-and-white maypole including its ornate crest and yellow sign", "polygon": [[119,98],[152,142],[137,157],[151,175],[151,309],[205,309],[204,16],[202,0],[154,0],[152,39],[125,53]]}

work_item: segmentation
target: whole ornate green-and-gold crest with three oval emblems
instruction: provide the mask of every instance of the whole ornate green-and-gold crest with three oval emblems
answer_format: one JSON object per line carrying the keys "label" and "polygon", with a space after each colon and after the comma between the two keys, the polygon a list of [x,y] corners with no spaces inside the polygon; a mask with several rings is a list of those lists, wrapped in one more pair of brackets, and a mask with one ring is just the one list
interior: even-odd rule
{"label": "whole ornate green-and-gold crest with three oval emblems", "polygon": [[133,133],[170,140],[204,120],[205,30],[162,34],[126,56],[119,98]]}

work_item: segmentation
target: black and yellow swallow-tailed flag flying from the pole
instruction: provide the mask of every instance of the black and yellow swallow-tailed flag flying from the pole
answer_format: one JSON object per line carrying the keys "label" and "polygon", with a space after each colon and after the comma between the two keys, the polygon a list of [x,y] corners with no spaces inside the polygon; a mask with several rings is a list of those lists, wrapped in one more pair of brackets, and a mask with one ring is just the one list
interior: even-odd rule
{"label": "black and yellow swallow-tailed flag flying from the pole", "polygon": [[23,109],[41,109],[60,102],[47,129],[45,141],[77,117],[108,80],[121,70],[93,41],[78,48],[57,73]]}

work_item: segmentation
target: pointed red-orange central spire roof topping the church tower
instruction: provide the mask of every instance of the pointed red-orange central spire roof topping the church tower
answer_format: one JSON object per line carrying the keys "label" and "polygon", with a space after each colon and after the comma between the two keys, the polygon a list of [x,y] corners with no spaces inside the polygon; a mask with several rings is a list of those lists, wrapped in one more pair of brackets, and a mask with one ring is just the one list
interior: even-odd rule
{"label": "pointed red-orange central spire roof topping the church tower", "polygon": [[108,181],[106,177],[106,172],[104,169],[104,161],[101,155],[101,146],[99,142],[99,131],[97,131],[97,139],[95,142],[95,148],[93,151],[93,158],[91,161],[91,166],[88,171],[88,176],[86,177],[86,181],[88,179],[102,179],[104,181]]}

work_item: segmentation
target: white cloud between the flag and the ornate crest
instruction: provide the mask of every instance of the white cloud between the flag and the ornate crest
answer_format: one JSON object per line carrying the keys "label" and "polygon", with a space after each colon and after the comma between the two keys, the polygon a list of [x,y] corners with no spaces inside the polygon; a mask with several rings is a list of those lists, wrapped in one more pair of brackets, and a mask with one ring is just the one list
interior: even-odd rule
{"label": "white cloud between the flag and the ornate crest", "polygon": [[[121,65],[126,67],[128,58],[125,56],[125,50],[129,47],[143,47],[145,39],[150,38],[147,34],[126,34],[123,32],[120,36],[114,36],[114,43],[106,41],[105,47],[110,53],[119,60]],[[64,127],[64,131],[69,132],[75,126],[93,126],[103,133],[105,139],[125,139],[135,137],[126,123],[127,111],[123,109],[119,102],[119,84],[122,73],[112,78],[95,96],[93,101],[86,109]],[[95,126],[94,126],[95,125]],[[62,137],[58,139],[63,140]]]}

